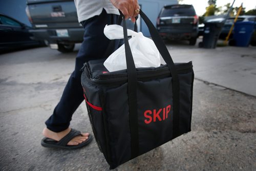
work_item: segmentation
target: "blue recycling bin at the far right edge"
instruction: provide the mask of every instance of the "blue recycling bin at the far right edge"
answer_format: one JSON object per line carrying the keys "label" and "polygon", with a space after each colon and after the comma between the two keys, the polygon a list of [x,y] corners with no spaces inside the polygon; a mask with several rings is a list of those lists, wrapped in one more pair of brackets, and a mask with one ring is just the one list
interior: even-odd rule
{"label": "blue recycling bin at the far right edge", "polygon": [[254,32],[255,22],[237,22],[234,24],[233,39],[236,46],[248,47]]}

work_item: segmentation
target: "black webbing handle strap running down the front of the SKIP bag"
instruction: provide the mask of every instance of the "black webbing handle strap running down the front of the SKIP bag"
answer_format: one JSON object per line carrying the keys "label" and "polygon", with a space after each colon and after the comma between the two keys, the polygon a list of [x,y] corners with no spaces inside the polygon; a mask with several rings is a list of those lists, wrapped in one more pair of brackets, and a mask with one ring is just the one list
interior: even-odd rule
{"label": "black webbing handle strap running down the front of the SKIP bag", "polygon": [[[140,10],[140,16],[146,23],[148,30],[152,36],[152,39],[162,55],[166,65],[170,70],[173,81],[173,138],[180,135],[179,133],[179,78],[176,71],[172,57],[164,45],[161,37],[159,36],[155,26],[151,23],[150,19]],[[139,133],[138,133],[138,113],[137,113],[137,74],[135,63],[133,60],[132,51],[129,45],[127,37],[127,27],[125,19],[123,18],[123,34],[124,34],[124,46],[125,46],[125,58],[128,76],[128,97],[129,97],[129,117],[130,117],[130,129],[131,129],[131,158],[135,158],[139,155]]]}

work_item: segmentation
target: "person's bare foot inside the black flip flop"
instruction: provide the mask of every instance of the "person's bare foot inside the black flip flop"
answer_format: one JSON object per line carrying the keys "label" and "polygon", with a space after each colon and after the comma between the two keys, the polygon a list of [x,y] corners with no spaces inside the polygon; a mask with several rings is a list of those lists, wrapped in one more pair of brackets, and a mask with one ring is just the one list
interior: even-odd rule
{"label": "person's bare foot inside the black flip flop", "polygon": [[[59,133],[52,132],[51,130],[45,128],[42,131],[42,135],[44,135],[47,138],[51,138],[53,140],[59,141],[63,137],[65,137],[69,132],[71,131],[71,128],[69,127],[67,130],[61,131]],[[78,145],[88,139],[89,133],[81,133],[81,136],[76,136],[72,140],[69,141],[67,145]]]}

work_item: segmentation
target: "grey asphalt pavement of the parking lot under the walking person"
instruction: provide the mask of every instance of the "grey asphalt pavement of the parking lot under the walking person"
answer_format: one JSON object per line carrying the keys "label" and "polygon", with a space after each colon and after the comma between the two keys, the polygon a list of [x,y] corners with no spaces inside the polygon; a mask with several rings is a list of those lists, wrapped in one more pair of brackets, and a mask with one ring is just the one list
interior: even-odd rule
{"label": "grey asphalt pavement of the parking lot under the walking person", "polygon": [[[166,45],[175,62],[193,61],[192,131],[114,170],[256,170],[256,48]],[[78,48],[0,55],[0,170],[109,169],[95,140],[76,150],[40,145]],[[71,127],[92,133],[84,103]]]}

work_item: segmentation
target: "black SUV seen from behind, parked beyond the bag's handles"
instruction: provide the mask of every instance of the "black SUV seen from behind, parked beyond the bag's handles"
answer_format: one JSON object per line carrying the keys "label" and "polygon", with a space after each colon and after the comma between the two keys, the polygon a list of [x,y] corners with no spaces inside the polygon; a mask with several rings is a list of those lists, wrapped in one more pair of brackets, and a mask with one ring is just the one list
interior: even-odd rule
{"label": "black SUV seen from behind, parked beyond the bag's handles", "polygon": [[157,30],[164,39],[186,39],[195,45],[198,35],[198,16],[192,5],[164,6],[157,18]]}

